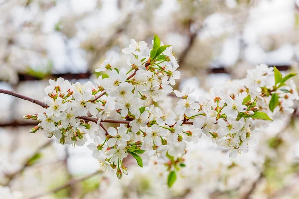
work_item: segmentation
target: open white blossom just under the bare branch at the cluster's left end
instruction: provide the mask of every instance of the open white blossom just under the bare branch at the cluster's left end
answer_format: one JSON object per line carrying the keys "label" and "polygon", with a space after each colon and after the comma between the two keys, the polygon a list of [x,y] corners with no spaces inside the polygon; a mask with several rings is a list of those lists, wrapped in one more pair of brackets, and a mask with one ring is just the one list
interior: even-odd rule
{"label": "open white blossom just under the bare branch at the cluster's left end", "polygon": [[60,116],[61,112],[66,110],[67,105],[62,103],[62,98],[61,97],[57,97],[56,100],[54,100],[53,98],[50,98],[49,96],[46,96],[44,98],[45,102],[47,103],[47,105],[49,106],[46,109],[46,113],[49,116]]}

